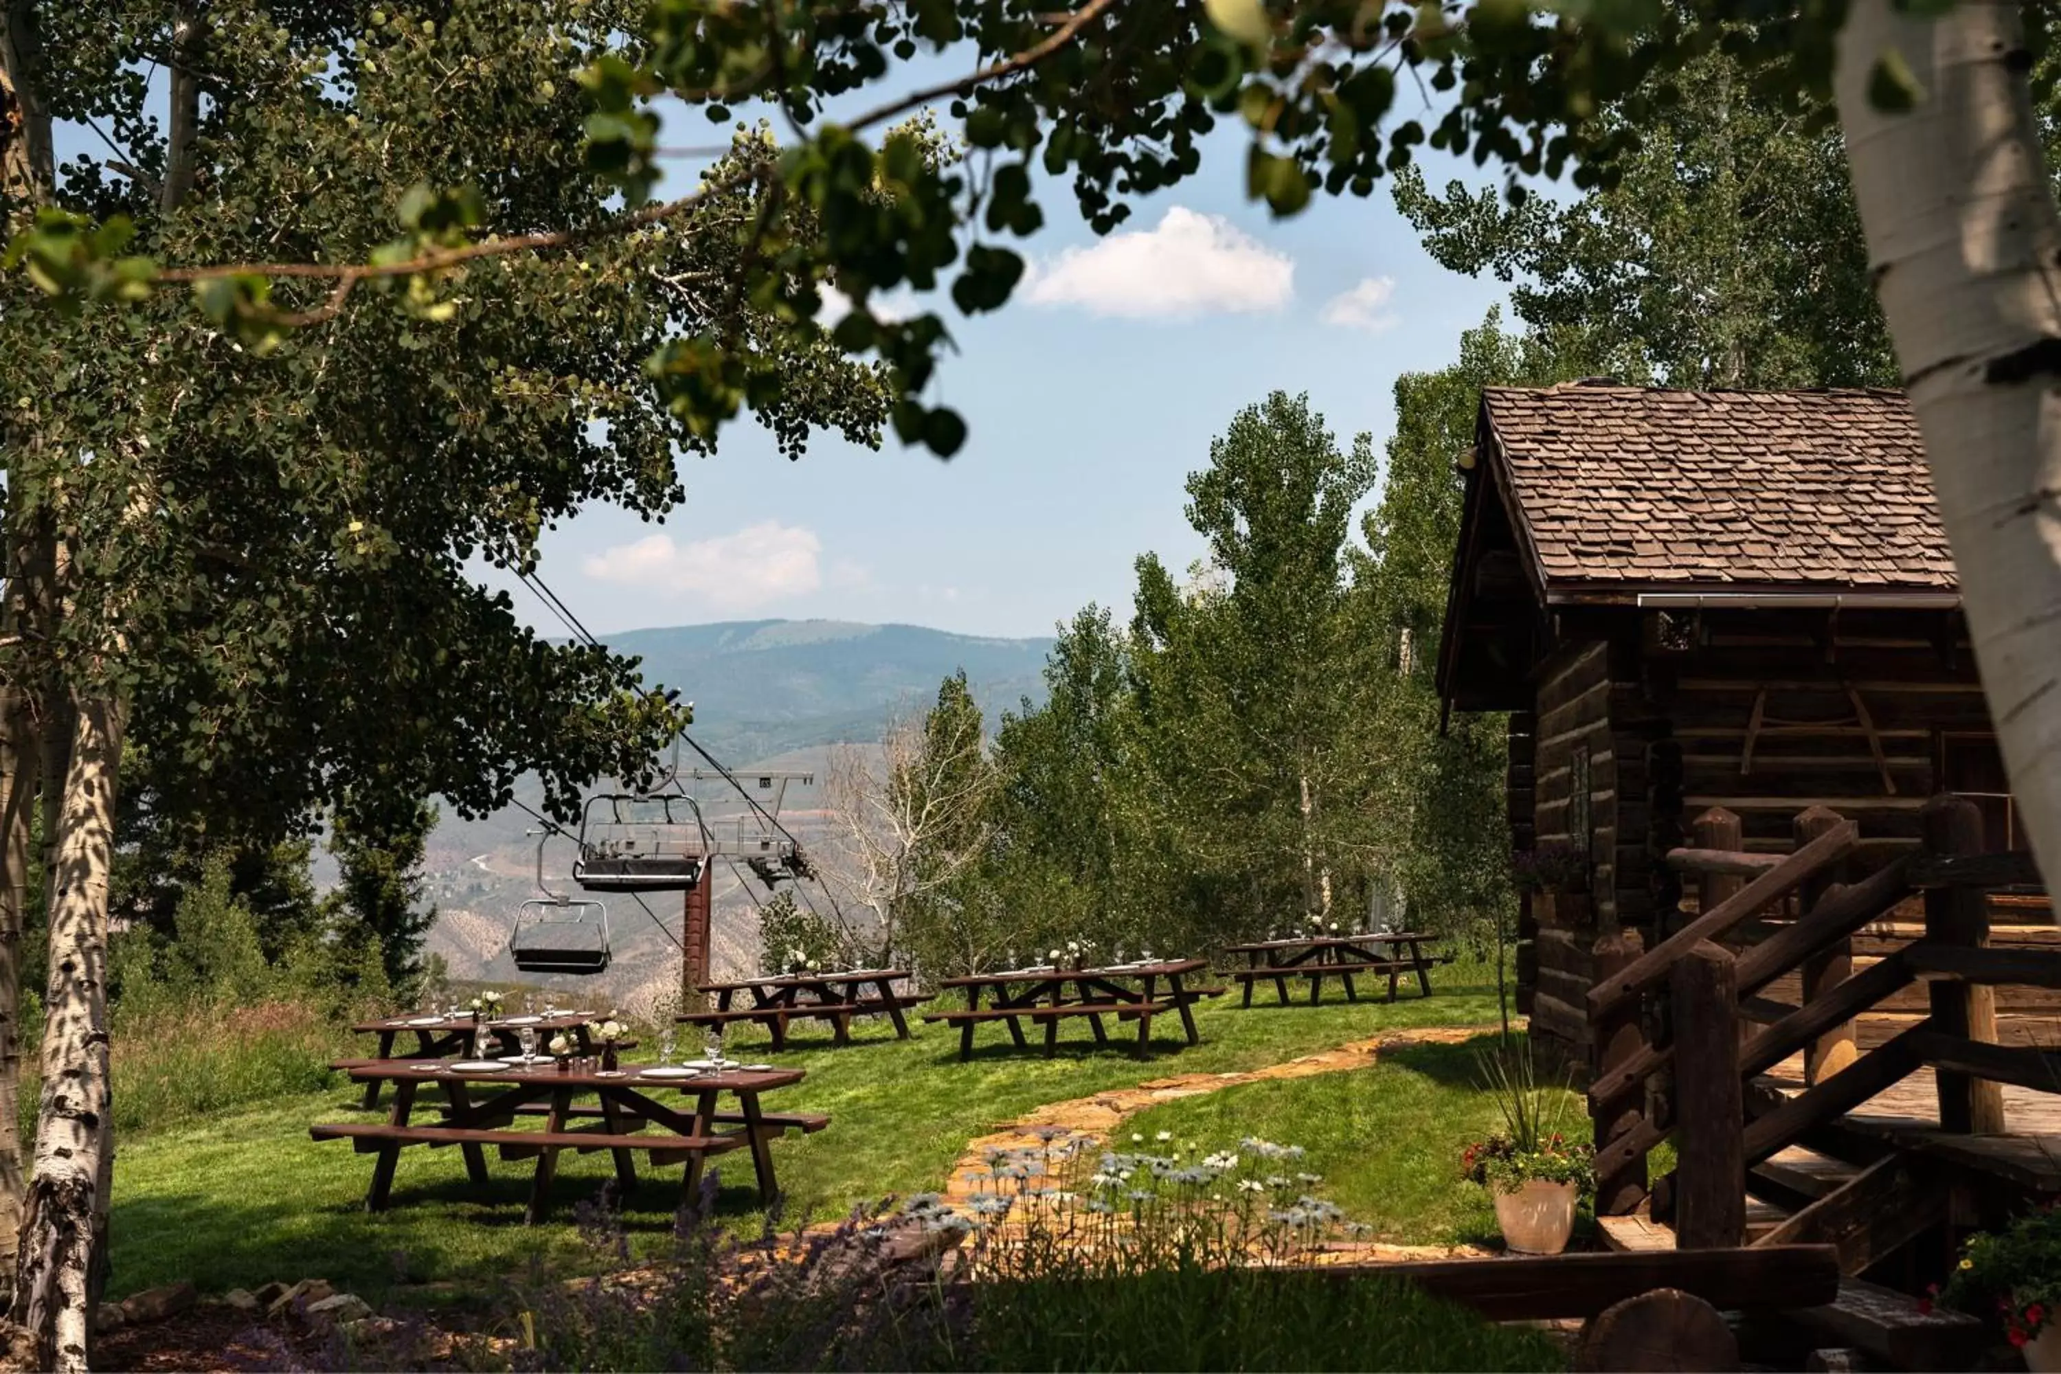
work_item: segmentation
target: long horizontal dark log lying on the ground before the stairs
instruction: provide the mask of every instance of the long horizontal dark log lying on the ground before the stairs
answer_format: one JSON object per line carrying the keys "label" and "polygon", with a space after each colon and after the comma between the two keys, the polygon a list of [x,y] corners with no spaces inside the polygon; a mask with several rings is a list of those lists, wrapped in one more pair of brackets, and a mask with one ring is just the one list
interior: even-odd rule
{"label": "long horizontal dark log lying on the ground before the stairs", "polygon": [[1655,1287],[1678,1287],[1721,1310],[1816,1306],[1838,1296],[1838,1255],[1824,1244],[1434,1259],[1272,1273],[1300,1283],[1401,1279],[1447,1302],[1463,1302],[1490,1320],[1595,1316]]}

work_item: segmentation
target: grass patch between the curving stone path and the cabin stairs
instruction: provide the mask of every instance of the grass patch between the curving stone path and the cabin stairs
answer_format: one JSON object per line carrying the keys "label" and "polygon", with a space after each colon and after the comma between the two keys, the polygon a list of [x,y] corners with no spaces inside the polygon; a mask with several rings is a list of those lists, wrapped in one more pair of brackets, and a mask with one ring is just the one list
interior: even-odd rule
{"label": "grass patch between the curving stone path and the cabin stairs", "polygon": [[[1321,1193],[1377,1240],[1457,1244],[1496,1238],[1488,1195],[1459,1176],[1459,1152],[1502,1129],[1476,1084],[1484,1034],[1465,1044],[1412,1044],[1366,1069],[1243,1084],[1148,1108],[1129,1131],[1152,1141],[1171,1131],[1202,1149],[1247,1135],[1303,1145],[1296,1168],[1323,1176]],[[1566,1094],[1562,1129],[1589,1139],[1581,1098]],[[1148,1145],[1150,1147],[1150,1145]]]}

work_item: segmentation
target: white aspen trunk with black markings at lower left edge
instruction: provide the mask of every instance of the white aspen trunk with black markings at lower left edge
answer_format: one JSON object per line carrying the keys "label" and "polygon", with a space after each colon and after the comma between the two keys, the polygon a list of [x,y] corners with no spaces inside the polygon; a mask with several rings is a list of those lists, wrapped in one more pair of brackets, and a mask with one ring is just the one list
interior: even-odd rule
{"label": "white aspen trunk with black markings at lower left edge", "polygon": [[35,1341],[37,1368],[60,1372],[87,1368],[93,1269],[105,1244],[107,875],[124,715],[107,696],[76,700],[64,843],[49,875],[43,1094],[12,1310]]}

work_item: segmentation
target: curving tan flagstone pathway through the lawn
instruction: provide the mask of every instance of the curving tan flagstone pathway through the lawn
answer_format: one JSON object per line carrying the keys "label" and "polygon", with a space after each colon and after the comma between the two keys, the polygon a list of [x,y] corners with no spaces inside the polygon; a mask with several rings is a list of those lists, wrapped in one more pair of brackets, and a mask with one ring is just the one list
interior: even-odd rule
{"label": "curving tan flagstone pathway through the lawn", "polygon": [[[1237,1088],[1241,1084],[1263,1084],[1274,1079],[1364,1069],[1379,1059],[1381,1051],[1404,1049],[1410,1044],[1459,1044],[1490,1032],[1494,1032],[1494,1026],[1418,1026],[1408,1030],[1389,1030],[1366,1040],[1342,1044],[1333,1051],[1303,1055],[1300,1059],[1268,1065],[1263,1069],[1247,1069],[1239,1073],[1179,1073],[1175,1077],[1148,1079],[1131,1088],[1111,1088],[1088,1098],[1049,1102],[1033,1112],[1026,1112],[1018,1121],[1008,1123],[991,1135],[981,1135],[969,1141],[965,1154],[960,1154],[958,1162],[952,1166],[952,1176],[944,1187],[944,1199],[948,1203],[967,1203],[975,1193],[987,1191],[991,1187],[985,1180],[987,1158],[993,1149],[1037,1149],[1047,1143],[1055,1147],[1074,1143],[1076,1149],[1101,1149],[1109,1143],[1117,1125],[1125,1117],[1142,1112],[1148,1106],[1158,1106],[1160,1102],[1195,1098],[1206,1092],[1222,1092],[1224,1088]],[[1051,1137],[1051,1131],[1063,1131],[1063,1135]],[[1492,1255],[1492,1250],[1484,1250],[1480,1246],[1360,1242],[1336,1244],[1313,1259],[1317,1263],[1364,1265],[1383,1261],[1399,1263],[1410,1259],[1472,1259],[1486,1255]]]}

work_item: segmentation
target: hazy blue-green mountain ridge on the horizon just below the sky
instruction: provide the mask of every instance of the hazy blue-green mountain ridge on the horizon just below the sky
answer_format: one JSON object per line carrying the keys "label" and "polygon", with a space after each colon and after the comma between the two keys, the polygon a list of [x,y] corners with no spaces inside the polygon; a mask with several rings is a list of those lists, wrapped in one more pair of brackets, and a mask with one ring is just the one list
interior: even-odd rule
{"label": "hazy blue-green mountain ridge on the horizon just below the sky", "polygon": [[960,667],[989,719],[1024,696],[1043,700],[1053,643],[845,620],[732,620],[606,639],[643,659],[645,682],[695,702],[697,740],[738,758],[876,740],[888,715],[921,711]]}

